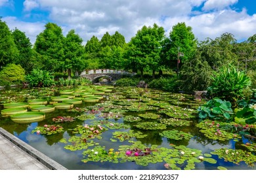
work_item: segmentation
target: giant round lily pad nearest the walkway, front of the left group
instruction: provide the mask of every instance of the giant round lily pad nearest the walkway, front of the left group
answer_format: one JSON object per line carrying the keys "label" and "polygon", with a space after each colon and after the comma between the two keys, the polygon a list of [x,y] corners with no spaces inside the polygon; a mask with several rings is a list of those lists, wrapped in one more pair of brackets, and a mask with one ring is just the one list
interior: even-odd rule
{"label": "giant round lily pad nearest the walkway, front of the left group", "polygon": [[32,122],[41,122],[45,120],[44,112],[23,112],[11,115],[11,120],[16,123],[25,124]]}

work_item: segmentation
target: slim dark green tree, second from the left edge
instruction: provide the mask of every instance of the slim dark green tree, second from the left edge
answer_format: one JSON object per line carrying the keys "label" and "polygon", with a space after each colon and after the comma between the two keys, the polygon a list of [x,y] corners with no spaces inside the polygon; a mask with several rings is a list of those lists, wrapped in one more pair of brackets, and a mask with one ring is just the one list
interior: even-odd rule
{"label": "slim dark green tree, second from the left edge", "polygon": [[18,51],[20,53],[16,63],[20,64],[22,68],[25,69],[26,73],[29,73],[33,69],[33,52],[30,39],[26,37],[24,32],[20,31],[17,28],[12,31],[12,37],[14,38],[16,48],[18,48]]}

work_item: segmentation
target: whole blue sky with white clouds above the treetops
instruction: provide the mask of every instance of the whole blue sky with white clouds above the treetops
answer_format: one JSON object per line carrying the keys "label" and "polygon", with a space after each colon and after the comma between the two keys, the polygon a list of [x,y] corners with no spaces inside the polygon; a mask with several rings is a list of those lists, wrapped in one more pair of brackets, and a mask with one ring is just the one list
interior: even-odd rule
{"label": "whole blue sky with white clouds above the treetops", "polygon": [[223,33],[244,41],[256,33],[256,0],[0,0],[0,16],[32,44],[47,22],[62,27],[64,35],[75,29],[84,44],[106,31],[119,31],[129,42],[143,25],[154,23],[169,35],[173,25],[185,22],[199,41]]}

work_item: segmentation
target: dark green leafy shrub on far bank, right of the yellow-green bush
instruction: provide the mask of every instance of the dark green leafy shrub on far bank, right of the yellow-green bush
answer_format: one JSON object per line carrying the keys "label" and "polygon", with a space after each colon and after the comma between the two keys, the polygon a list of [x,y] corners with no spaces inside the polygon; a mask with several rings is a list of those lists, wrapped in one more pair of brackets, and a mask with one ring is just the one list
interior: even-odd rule
{"label": "dark green leafy shrub on far bank, right of the yellow-green bush", "polygon": [[26,82],[32,87],[48,87],[54,85],[54,76],[48,71],[33,69],[30,75],[27,75]]}

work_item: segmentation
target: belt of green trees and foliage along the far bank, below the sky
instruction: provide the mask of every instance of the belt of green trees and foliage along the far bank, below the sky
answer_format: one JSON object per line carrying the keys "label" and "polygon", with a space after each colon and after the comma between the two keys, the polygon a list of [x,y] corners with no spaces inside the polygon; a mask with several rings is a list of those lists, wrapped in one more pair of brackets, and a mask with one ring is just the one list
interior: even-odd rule
{"label": "belt of green trees and foliage along the far bank, below the sky", "polygon": [[[33,69],[41,69],[53,73],[54,79],[58,80],[77,77],[85,69],[122,69],[138,73],[140,78],[136,78],[136,84],[137,80],[146,80],[150,76],[151,81],[146,82],[152,88],[191,93],[215,88],[212,83],[218,84],[216,73],[226,65],[232,65],[232,71],[251,78],[251,86],[239,86],[243,90],[233,88],[231,92],[238,91],[235,96],[227,96],[226,93],[225,96],[218,96],[217,91],[209,90],[212,97],[232,102],[243,97],[249,99],[251,89],[255,88],[255,35],[244,42],[237,42],[230,33],[198,41],[192,27],[180,22],[173,26],[168,36],[163,27],[153,24],[144,25],[129,42],[125,42],[125,37],[116,31],[113,35],[106,32],[101,39],[93,35],[83,45],[83,39],[74,29],[63,35],[60,26],[49,22],[32,45],[26,33],[18,29],[9,30],[1,20],[0,27],[0,71],[5,65],[14,63],[21,65],[26,75]],[[177,77],[173,77],[173,72],[177,73]],[[121,81],[118,83],[121,84]],[[121,85],[136,85],[129,83]]]}

